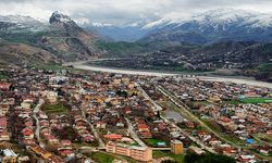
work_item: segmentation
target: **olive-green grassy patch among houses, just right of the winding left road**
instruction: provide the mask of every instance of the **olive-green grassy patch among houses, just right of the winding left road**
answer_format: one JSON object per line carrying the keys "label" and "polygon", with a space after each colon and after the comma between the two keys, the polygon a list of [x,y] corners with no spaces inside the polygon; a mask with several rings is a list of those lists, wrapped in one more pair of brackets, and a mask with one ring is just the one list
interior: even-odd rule
{"label": "olive-green grassy patch among houses, just right of the winding left road", "polygon": [[47,113],[47,114],[66,114],[69,112],[69,109],[63,105],[62,103],[58,103],[58,104],[49,104],[46,103],[42,105],[42,110]]}

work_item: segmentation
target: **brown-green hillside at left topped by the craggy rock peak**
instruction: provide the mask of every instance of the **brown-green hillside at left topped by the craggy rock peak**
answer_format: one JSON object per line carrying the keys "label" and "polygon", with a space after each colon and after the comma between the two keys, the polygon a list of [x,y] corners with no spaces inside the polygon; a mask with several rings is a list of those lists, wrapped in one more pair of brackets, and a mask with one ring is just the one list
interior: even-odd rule
{"label": "brown-green hillside at left topped by the craggy rock peak", "polygon": [[0,38],[40,48],[60,62],[87,60],[100,54],[94,46],[98,39],[96,34],[85,32],[59,12],[51,15],[49,24],[26,16],[1,16]]}

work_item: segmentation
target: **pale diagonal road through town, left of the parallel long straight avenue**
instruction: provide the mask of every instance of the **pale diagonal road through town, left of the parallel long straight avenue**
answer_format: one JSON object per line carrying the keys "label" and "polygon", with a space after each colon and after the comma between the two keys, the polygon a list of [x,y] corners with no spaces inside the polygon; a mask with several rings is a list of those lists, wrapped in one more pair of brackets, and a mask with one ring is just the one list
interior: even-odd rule
{"label": "pale diagonal road through town, left of the parallel long straight avenue", "polygon": [[[162,110],[162,108],[157,104],[156,101],[153,101],[147,93],[146,91],[137,84],[137,88],[143,92],[144,97],[146,99],[148,99],[151,103],[154,103],[156,106],[158,106],[157,109],[154,109],[153,111],[157,112],[158,110]],[[175,128],[178,129],[178,131],[181,131],[184,136],[188,137],[191,141],[196,142],[197,145],[199,145],[202,149],[206,149],[207,151],[211,152],[211,153],[217,153],[212,148],[203,145],[200,140],[198,140],[197,138],[193,137],[191,135],[189,135],[187,131],[185,131],[184,129],[182,129],[181,127],[178,127],[175,124],[172,124],[166,117],[164,117],[163,115],[161,115],[161,118],[169,125],[174,125]]]}

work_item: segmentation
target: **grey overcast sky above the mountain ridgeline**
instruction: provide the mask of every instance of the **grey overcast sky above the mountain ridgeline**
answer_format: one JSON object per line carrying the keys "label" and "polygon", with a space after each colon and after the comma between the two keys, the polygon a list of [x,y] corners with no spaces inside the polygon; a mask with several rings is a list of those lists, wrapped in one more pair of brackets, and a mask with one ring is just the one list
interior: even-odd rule
{"label": "grey overcast sky above the mountain ridgeline", "polygon": [[272,13],[272,0],[0,0],[0,14],[48,20],[60,11],[77,21],[125,24],[160,17],[188,17],[219,8]]}

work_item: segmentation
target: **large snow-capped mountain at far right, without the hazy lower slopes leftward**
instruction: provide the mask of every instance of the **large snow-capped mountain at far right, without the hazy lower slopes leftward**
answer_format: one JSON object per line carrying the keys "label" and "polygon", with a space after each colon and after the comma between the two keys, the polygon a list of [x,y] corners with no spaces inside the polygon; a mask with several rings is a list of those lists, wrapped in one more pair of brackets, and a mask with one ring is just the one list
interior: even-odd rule
{"label": "large snow-capped mountain at far right, without the hazy lower slopes leftward", "polygon": [[171,21],[143,40],[209,43],[225,40],[272,41],[272,14],[218,9],[180,22]]}

